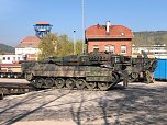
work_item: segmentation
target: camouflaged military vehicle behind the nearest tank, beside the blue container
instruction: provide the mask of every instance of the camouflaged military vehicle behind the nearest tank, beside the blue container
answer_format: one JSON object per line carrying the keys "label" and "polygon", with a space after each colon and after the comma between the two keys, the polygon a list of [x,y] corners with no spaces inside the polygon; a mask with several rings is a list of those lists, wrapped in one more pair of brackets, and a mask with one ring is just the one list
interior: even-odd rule
{"label": "camouflaged military vehicle behind the nearest tank, beside the blue container", "polygon": [[131,82],[146,81],[147,83],[153,83],[154,71],[157,67],[157,59],[148,58],[147,54],[143,50],[142,55],[131,59],[131,65],[126,69],[129,71],[129,80]]}

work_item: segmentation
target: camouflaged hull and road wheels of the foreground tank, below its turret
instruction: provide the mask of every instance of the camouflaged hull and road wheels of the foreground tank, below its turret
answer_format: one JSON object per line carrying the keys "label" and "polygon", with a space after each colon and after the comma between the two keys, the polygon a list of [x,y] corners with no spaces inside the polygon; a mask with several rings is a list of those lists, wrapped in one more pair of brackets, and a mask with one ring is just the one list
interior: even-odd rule
{"label": "camouflaged hull and road wheels of the foreground tank, below its turret", "polygon": [[25,79],[36,88],[108,90],[115,83],[112,69],[97,66],[58,66],[36,63],[23,72]]}

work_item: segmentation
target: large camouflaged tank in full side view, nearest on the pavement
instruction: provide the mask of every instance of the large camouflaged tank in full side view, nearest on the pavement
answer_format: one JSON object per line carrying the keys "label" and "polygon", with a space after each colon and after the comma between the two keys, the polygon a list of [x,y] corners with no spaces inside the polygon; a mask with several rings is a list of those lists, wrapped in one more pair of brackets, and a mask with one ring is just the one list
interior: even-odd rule
{"label": "large camouflaged tank in full side view, nearest on the pavement", "polygon": [[[122,77],[110,59],[109,54],[71,55],[25,61],[21,67],[25,79],[36,88],[108,90]],[[112,60],[121,60],[121,56],[115,55]]]}

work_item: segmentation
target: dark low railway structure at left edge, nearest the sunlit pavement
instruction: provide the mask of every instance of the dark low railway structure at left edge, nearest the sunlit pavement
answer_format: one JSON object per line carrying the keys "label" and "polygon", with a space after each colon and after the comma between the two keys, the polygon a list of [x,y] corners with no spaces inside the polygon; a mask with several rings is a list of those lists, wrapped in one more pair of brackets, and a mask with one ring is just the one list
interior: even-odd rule
{"label": "dark low railway structure at left edge, nearest the sunlit pavement", "polygon": [[4,95],[23,94],[30,91],[34,91],[34,87],[30,83],[0,82],[0,100]]}

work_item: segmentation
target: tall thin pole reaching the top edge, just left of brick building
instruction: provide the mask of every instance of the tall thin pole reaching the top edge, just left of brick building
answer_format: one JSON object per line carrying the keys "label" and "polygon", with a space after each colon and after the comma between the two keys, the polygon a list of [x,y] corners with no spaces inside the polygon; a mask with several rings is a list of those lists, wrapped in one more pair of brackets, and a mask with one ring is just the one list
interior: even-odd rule
{"label": "tall thin pole reaching the top edge, just left of brick building", "polygon": [[85,0],[81,3],[82,10],[82,54],[85,53]]}

